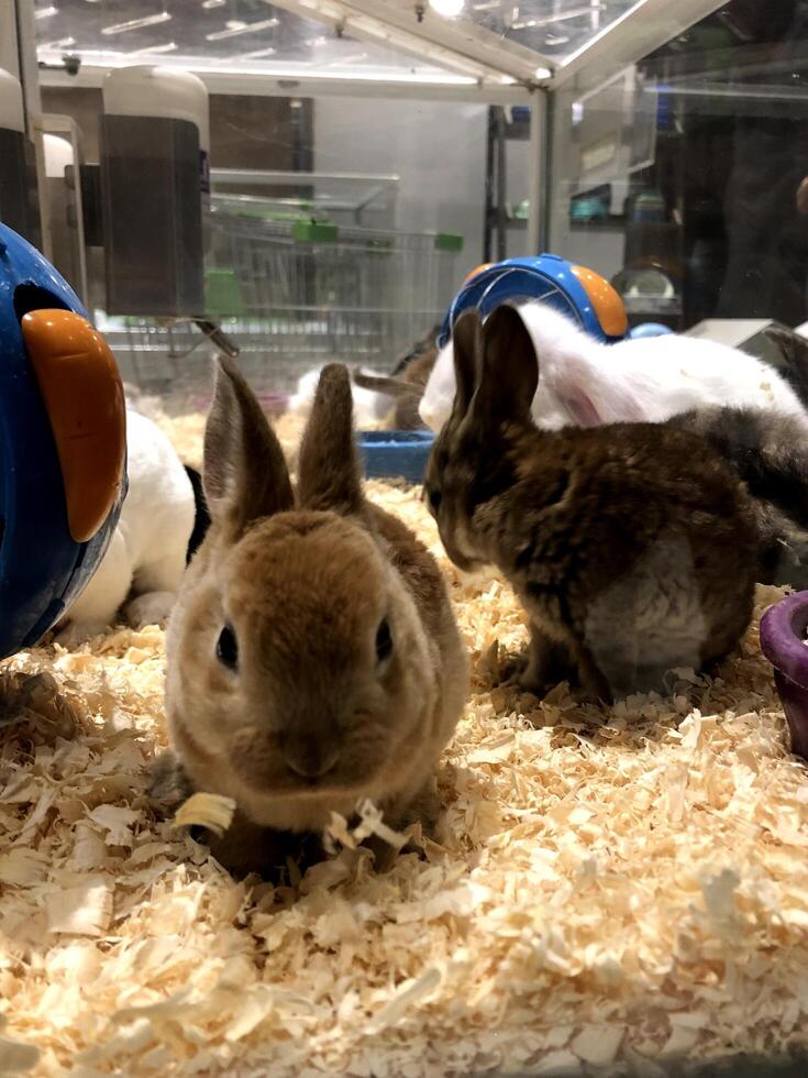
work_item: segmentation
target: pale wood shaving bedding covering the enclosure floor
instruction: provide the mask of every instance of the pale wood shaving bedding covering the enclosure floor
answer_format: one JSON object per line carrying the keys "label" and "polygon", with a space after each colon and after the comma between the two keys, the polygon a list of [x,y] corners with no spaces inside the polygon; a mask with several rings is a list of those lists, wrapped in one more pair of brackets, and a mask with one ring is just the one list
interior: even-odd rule
{"label": "pale wood shaving bedding covering the enclosure floor", "polygon": [[757,641],[784,593],[720,679],[540,703],[497,684],[527,642],[507,584],[460,579],[417,491],[368,487],[439,557],[474,656],[440,842],[378,876],[365,805],[302,879],[235,882],[146,796],[163,631],[16,656],[0,1075],[658,1078],[806,1050],[808,781]]}

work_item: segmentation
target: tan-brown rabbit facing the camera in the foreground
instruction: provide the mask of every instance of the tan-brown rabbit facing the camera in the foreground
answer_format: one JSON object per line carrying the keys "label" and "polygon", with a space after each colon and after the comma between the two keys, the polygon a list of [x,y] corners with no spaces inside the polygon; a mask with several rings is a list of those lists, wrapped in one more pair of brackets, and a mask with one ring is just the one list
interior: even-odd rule
{"label": "tan-brown rabbit facing the camera in the foreground", "polygon": [[[156,793],[233,798],[258,859],[261,828],[321,833],[364,798],[429,832],[468,660],[433,558],[363,496],[347,370],[320,376],[296,506],[275,433],[220,360],[203,481],[211,527],[166,640],[181,776],[161,762]],[[243,836],[219,844],[225,862],[229,843],[243,867]]]}

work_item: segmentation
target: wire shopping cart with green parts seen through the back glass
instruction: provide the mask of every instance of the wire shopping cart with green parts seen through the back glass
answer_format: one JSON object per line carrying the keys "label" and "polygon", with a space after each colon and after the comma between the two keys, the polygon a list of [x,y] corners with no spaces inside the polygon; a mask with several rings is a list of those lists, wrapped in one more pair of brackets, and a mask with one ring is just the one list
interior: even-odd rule
{"label": "wire shopping cart with green parts seen through the back glass", "polygon": [[[343,227],[214,196],[207,315],[258,392],[289,393],[332,361],[389,370],[443,317],[462,249],[450,233]],[[190,323],[129,319],[108,333],[124,377],[163,395],[207,392],[211,350]]]}

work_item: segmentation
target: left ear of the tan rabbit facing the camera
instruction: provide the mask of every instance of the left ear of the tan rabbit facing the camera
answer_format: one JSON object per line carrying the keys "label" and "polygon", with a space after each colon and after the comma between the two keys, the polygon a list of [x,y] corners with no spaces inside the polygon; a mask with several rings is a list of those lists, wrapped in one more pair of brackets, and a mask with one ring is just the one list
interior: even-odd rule
{"label": "left ear of the tan rabbit facing the camera", "polygon": [[244,375],[225,358],[204,428],[202,482],[211,519],[236,536],[295,501],[280,442]]}

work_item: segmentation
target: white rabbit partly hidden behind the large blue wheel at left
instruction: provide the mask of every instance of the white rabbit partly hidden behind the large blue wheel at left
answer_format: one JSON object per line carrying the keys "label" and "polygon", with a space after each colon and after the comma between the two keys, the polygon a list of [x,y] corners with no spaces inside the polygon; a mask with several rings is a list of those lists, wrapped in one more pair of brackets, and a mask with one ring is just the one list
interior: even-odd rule
{"label": "white rabbit partly hidden behind the large blue wheel at left", "polygon": [[145,416],[126,409],[129,493],[109,548],[67,612],[56,640],[65,647],[111,625],[131,592],[130,624],[164,620],[174,605],[193,529],[193,487],[174,447]]}

